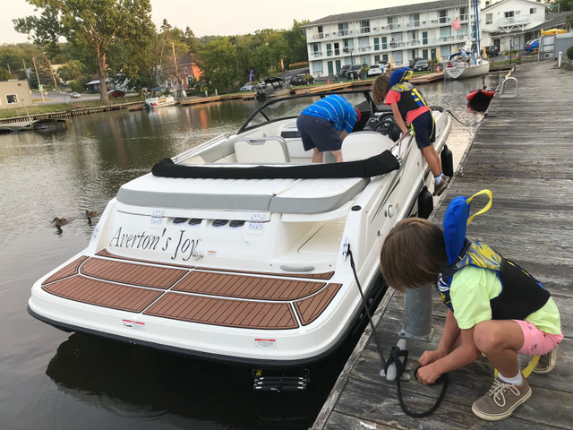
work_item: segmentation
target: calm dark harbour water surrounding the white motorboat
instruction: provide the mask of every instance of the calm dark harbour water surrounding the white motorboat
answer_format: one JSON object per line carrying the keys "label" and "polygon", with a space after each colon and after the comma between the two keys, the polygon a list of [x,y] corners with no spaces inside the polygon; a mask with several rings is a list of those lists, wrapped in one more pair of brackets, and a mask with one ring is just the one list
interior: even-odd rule
{"label": "calm dark harbour water surrounding the white motorboat", "polygon": [[[430,105],[473,125],[483,114],[467,109],[466,93],[479,86],[478,78],[419,88]],[[88,244],[86,210],[103,211],[120,185],[159,159],[234,133],[257,106],[113,112],[75,117],[64,132],[0,134],[0,428],[312,426],[356,339],[311,368],[308,391],[259,393],[249,369],[65,333],[26,312],[32,283]],[[473,133],[475,126],[453,122],[448,144],[456,163]],[[54,217],[69,223],[57,231]]]}

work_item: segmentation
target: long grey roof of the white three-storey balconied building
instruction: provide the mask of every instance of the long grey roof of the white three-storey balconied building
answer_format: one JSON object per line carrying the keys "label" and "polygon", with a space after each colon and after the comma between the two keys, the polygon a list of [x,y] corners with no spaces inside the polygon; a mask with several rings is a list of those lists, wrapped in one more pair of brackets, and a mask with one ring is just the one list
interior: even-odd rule
{"label": "long grey roof of the white three-storey balconied building", "polygon": [[449,9],[452,7],[467,6],[467,4],[460,3],[459,0],[442,0],[440,2],[428,2],[418,4],[405,4],[403,6],[385,7],[383,9],[372,9],[370,11],[338,13],[336,15],[329,15],[320,20],[304,24],[303,28],[313,27],[322,24],[331,24],[338,22],[362,21],[372,20],[376,18],[383,18],[389,15],[401,15],[404,13],[419,13],[432,10]]}

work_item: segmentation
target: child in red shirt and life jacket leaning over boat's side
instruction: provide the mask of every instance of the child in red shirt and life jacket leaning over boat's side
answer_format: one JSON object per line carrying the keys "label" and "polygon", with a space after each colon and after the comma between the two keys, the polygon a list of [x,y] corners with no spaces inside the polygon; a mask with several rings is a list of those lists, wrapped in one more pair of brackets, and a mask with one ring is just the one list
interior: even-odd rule
{"label": "child in red shirt and life jacket leaning over boat's side", "polygon": [[372,83],[372,98],[377,105],[385,102],[392,107],[394,119],[402,133],[407,133],[406,125],[412,127],[418,148],[422,150],[432,170],[433,195],[440,195],[448,186],[449,177],[443,174],[440,155],[432,145],[436,140],[432,111],[414,85],[407,82],[412,73],[406,67],[392,73],[390,77],[381,74]]}

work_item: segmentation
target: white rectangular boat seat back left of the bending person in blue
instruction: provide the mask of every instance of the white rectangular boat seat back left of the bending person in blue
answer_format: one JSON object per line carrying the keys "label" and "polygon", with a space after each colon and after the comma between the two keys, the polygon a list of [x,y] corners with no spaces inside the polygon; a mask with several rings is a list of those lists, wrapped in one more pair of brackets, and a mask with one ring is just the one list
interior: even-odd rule
{"label": "white rectangular boat seat back left of the bending person in blue", "polygon": [[282,137],[239,139],[235,142],[236,162],[240,164],[289,162],[286,143]]}

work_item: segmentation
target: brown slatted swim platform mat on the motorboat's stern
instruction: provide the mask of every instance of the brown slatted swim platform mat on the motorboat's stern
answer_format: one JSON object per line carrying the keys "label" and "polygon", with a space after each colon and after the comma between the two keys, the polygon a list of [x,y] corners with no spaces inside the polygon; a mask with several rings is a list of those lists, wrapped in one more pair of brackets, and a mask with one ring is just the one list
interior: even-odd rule
{"label": "brown slatted swim platform mat on the motorboat's stern", "polygon": [[42,283],[50,294],[107,308],[192,323],[296,329],[336,296],[334,272],[271,274],[158,264],[100,251],[67,264]]}

